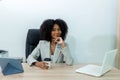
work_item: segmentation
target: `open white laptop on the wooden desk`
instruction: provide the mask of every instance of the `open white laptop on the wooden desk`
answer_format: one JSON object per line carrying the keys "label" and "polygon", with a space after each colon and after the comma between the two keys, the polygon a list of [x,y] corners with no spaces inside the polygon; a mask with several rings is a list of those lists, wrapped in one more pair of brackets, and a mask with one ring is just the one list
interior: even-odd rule
{"label": "open white laptop on the wooden desk", "polygon": [[102,65],[88,64],[75,71],[77,73],[83,73],[91,76],[100,77],[106,72],[110,71],[113,67],[113,61],[115,60],[117,49],[111,50],[105,53]]}

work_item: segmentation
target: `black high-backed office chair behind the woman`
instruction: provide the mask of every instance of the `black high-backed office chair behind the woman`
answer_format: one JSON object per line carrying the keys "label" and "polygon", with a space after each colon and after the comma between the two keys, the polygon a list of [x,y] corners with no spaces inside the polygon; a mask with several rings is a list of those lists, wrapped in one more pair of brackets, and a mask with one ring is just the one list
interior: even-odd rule
{"label": "black high-backed office chair behind the woman", "polygon": [[[40,40],[40,32],[39,29],[29,29],[26,38],[26,59],[29,54],[34,50]],[[41,56],[38,57],[38,61],[41,61]]]}

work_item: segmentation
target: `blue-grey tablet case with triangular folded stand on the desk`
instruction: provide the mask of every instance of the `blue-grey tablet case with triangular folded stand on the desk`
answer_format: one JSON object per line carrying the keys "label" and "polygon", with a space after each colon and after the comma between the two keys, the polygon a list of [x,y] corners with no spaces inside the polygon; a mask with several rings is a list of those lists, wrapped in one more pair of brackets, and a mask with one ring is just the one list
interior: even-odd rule
{"label": "blue-grey tablet case with triangular folded stand on the desk", "polygon": [[24,72],[22,64],[18,59],[0,58],[0,67],[3,75],[11,75]]}

